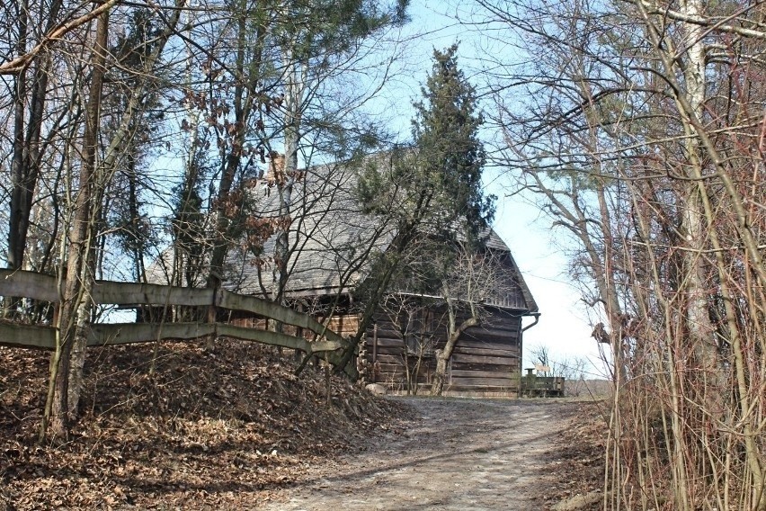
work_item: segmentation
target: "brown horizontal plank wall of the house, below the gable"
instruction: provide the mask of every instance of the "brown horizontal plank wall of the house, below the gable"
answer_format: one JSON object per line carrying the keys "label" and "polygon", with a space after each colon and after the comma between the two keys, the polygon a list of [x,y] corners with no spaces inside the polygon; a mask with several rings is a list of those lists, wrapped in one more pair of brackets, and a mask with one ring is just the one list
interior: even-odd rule
{"label": "brown horizontal plank wall of the house, below the gable", "polygon": [[[441,318],[437,310],[434,317]],[[463,320],[466,317],[460,317]],[[412,369],[418,355],[407,346],[391,318],[377,314],[375,327],[366,332],[366,354],[373,368],[370,381],[386,384],[393,390],[406,389],[405,357]],[[436,336],[434,349],[446,343],[445,324],[432,326]],[[460,336],[452,354],[445,390],[486,393],[506,392],[515,394],[521,378],[521,317],[500,309],[486,310],[481,327],[469,328]],[[421,361],[417,381],[430,385],[436,365],[433,354],[426,354]]]}

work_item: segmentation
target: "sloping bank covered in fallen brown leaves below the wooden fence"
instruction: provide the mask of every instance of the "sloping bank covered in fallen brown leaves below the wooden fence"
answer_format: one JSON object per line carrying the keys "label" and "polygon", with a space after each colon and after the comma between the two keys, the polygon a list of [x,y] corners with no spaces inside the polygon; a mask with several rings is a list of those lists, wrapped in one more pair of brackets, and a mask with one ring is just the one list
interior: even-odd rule
{"label": "sloping bank covered in fallen brown leaves below the wooden fence", "polygon": [[[89,350],[71,442],[37,445],[48,357],[0,348],[0,509],[252,506],[308,467],[396,428],[402,405],[221,341]],[[4,500],[7,504],[4,503]]]}

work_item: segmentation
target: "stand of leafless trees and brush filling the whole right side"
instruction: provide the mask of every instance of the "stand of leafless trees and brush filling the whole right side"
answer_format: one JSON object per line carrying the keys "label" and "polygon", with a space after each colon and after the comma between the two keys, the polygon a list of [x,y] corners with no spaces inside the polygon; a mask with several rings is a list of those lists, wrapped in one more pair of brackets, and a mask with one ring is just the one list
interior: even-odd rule
{"label": "stand of leafless trees and brush filling the whole right side", "polygon": [[614,369],[604,507],[766,509],[763,4],[478,4],[515,51],[485,67],[499,163]]}

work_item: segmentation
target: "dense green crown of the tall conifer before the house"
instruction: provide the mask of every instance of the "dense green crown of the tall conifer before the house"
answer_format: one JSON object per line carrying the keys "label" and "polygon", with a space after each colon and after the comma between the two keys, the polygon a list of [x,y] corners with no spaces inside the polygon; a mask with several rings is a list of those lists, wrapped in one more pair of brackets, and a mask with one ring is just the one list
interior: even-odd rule
{"label": "dense green crown of the tall conifer before the house", "polygon": [[[398,224],[403,246],[426,235],[477,245],[494,217],[494,196],[481,183],[485,150],[474,87],[460,71],[458,46],[434,51],[423,101],[415,103],[414,147],[391,152],[390,165],[362,169],[359,198],[365,211]],[[442,243],[443,245],[443,243]]]}

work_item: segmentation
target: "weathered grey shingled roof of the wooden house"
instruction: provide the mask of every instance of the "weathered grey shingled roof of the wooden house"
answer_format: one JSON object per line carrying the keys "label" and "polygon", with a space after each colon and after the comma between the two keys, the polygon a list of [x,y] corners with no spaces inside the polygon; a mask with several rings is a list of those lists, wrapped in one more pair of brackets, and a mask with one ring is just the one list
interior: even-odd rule
{"label": "weathered grey shingled roof of the wooden house", "polygon": [[[375,158],[381,165],[386,164],[385,155]],[[286,289],[289,296],[352,292],[369,275],[367,255],[385,252],[396,236],[393,222],[363,211],[356,193],[359,172],[359,164],[312,166],[296,184],[290,211]],[[279,217],[278,191],[268,178],[253,193],[264,218]],[[503,261],[497,273],[503,282],[487,292],[485,303],[525,314],[536,313],[538,305],[510,248],[494,229],[488,229],[485,235],[485,247],[501,253],[498,260]],[[245,244],[230,250],[223,285],[245,294],[268,290],[272,279],[269,255],[274,253],[274,245],[275,237],[269,238],[260,255],[248,251]]]}

